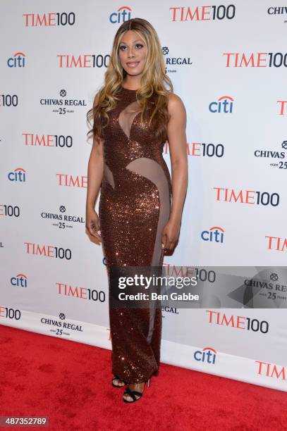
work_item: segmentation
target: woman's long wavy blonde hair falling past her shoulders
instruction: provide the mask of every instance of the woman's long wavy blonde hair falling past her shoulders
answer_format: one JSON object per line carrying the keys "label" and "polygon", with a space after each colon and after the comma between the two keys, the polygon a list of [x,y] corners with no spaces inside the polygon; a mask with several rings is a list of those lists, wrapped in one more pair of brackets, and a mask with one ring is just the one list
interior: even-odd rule
{"label": "woman's long wavy blonde hair falling past her shoulders", "polygon": [[[147,120],[147,111],[149,111],[149,126],[152,127],[153,135],[164,142],[167,139],[169,122],[167,104],[169,94],[173,92],[173,85],[166,75],[164,56],[157,32],[147,20],[142,18],[132,18],[126,21],[116,32],[109,66],[104,74],[104,85],[99,89],[97,103],[96,94],[93,106],[87,112],[87,122],[92,125],[87,136],[92,135],[93,139],[104,141],[103,128],[109,123],[107,112],[116,107],[116,100],[118,100],[116,94],[121,89],[123,79],[127,75],[119,58],[119,45],[128,30],[136,32],[147,46],[145,68],[142,71],[140,88],[136,92],[136,99],[142,112],[140,120],[142,123]],[[165,82],[169,85],[169,90],[165,88]],[[106,120],[106,124],[104,124],[104,120]]]}

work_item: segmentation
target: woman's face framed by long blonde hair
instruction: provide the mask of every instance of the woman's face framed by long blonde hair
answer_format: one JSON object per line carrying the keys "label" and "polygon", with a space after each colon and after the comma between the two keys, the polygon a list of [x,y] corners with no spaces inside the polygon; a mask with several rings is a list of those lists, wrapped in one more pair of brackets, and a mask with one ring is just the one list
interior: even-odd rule
{"label": "woman's face framed by long blonde hair", "polygon": [[121,65],[128,75],[140,75],[145,67],[147,46],[138,33],[128,30],[118,47]]}

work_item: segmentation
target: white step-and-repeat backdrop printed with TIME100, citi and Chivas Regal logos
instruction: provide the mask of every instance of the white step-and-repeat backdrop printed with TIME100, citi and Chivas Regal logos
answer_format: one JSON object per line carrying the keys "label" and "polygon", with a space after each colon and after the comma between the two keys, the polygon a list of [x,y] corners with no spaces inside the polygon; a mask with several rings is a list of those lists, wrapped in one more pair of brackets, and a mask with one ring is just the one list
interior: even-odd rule
{"label": "white step-and-repeat backdrop printed with TIME100, citi and Chivas Regal logos", "polygon": [[164,266],[269,268],[264,308],[165,306],[161,360],[287,390],[287,8],[272,5],[1,1],[2,325],[111,349],[102,246],[85,232],[86,113],[118,26],[145,18],[188,114],[188,196]]}

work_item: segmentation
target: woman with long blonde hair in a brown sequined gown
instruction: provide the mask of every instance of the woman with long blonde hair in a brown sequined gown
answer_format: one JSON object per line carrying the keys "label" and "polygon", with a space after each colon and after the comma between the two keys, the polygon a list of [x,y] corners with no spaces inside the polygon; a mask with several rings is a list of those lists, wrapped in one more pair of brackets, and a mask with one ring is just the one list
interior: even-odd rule
{"label": "woman with long blonde hair in a brown sequined gown", "polygon": [[[164,251],[178,241],[188,182],[185,107],[173,94],[147,20],[133,18],[118,28],[104,86],[87,118],[93,145],[86,227],[102,242],[109,275],[112,385],[127,385],[123,401],[134,402],[159,369],[161,308],[114,308],[111,268],[162,266]],[[166,140],[172,181],[162,156]]]}

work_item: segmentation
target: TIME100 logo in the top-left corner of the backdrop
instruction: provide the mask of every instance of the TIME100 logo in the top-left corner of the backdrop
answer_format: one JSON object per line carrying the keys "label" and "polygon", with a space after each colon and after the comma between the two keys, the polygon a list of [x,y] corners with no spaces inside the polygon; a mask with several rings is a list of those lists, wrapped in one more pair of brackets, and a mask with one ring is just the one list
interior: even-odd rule
{"label": "TIME100 logo in the top-left corner of the backdrop", "polygon": [[54,27],[55,25],[74,25],[73,12],[23,13],[25,27]]}

